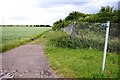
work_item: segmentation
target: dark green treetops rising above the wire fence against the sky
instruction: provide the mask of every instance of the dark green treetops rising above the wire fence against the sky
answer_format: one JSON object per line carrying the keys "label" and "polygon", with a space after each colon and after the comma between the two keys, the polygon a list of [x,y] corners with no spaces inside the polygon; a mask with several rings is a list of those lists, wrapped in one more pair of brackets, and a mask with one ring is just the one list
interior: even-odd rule
{"label": "dark green treetops rising above the wire fence against the sky", "polygon": [[[111,23],[120,22],[120,10],[114,10],[113,7],[106,6],[101,7],[98,13],[95,14],[85,14],[78,11],[71,12],[65,19],[60,19],[54,22],[52,29],[59,30],[61,28],[67,27],[73,21],[76,22],[92,22],[92,23],[103,23],[106,21]],[[118,29],[120,29],[118,27]]]}

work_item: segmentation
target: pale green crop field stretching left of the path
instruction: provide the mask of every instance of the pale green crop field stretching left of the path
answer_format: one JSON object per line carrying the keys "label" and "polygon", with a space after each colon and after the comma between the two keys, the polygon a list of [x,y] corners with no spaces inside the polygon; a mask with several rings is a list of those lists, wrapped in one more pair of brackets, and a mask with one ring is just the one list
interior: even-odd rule
{"label": "pale green crop field stretching left of the path", "polygon": [[50,27],[0,27],[0,52],[12,49],[26,42],[32,41]]}

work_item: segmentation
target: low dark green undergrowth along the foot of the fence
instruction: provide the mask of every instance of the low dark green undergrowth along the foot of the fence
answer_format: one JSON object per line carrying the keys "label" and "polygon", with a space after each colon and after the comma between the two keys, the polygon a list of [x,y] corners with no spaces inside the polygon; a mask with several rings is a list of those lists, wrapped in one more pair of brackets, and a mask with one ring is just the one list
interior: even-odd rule
{"label": "low dark green undergrowth along the foot of the fence", "polygon": [[[74,38],[70,36],[62,35],[57,38],[50,40],[50,43],[56,47],[62,48],[95,48],[99,50],[104,50],[104,41],[86,39],[86,38]],[[120,44],[118,43],[108,43],[109,52],[120,52]]]}

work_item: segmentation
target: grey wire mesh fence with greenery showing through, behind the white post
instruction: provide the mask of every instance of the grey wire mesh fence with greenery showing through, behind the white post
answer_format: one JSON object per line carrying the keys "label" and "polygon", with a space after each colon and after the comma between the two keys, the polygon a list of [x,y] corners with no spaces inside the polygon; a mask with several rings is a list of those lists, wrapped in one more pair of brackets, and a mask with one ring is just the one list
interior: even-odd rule
{"label": "grey wire mesh fence with greenery showing through, behind the white post", "polygon": [[[106,34],[105,23],[71,22],[62,30],[70,36],[71,42],[75,46],[104,49]],[[120,51],[119,23],[110,24],[108,51]]]}

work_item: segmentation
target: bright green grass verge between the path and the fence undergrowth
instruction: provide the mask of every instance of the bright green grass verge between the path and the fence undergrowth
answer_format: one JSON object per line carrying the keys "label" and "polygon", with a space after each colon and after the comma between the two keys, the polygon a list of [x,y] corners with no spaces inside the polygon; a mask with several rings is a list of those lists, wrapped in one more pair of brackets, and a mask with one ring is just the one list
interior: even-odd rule
{"label": "bright green grass verge between the path and the fence undergrowth", "polygon": [[36,40],[44,43],[45,54],[50,67],[60,77],[65,78],[117,78],[119,76],[119,55],[107,53],[105,71],[102,73],[103,51],[94,48],[71,49],[56,47],[50,41],[66,35],[60,31],[50,31]]}

